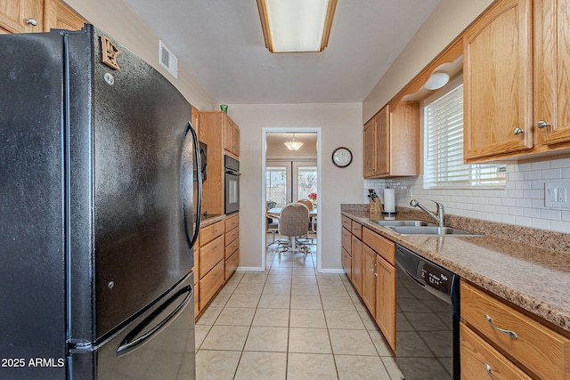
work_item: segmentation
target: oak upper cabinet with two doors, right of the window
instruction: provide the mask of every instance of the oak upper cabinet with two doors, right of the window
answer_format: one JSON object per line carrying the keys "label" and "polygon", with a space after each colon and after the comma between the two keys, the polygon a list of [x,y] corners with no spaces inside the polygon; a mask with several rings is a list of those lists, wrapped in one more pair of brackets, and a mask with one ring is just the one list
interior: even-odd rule
{"label": "oak upper cabinet with two doors, right of the window", "polygon": [[570,148],[569,23],[565,1],[500,0],[465,32],[467,163]]}

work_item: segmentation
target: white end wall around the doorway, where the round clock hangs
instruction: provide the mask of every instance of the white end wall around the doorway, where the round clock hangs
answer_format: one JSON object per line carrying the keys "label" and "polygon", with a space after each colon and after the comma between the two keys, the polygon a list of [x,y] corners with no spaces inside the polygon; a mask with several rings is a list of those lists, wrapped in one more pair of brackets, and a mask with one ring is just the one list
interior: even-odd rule
{"label": "white end wall around the doorway, where the round clock hangs", "polygon": [[[362,202],[362,107],[344,104],[230,105],[228,114],[240,125],[240,267],[261,268],[265,220],[262,186],[263,128],[321,128],[322,194],[319,215],[322,233],[322,268],[338,270],[340,263],[340,204]],[[345,146],[354,152],[343,169],[332,164],[332,150]],[[262,226],[262,223],[263,226]]]}

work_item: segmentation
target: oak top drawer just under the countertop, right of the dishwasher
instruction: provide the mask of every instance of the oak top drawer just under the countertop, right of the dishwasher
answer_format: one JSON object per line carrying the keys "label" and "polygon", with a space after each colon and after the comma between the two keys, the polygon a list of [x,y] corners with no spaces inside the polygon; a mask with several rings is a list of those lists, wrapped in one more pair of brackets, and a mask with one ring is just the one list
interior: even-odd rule
{"label": "oak top drawer just under the countertop, right of the dishwasher", "polygon": [[[469,325],[536,375],[545,379],[570,378],[570,340],[566,337],[466,281],[461,281],[460,312]],[[512,331],[517,337],[498,328]]]}

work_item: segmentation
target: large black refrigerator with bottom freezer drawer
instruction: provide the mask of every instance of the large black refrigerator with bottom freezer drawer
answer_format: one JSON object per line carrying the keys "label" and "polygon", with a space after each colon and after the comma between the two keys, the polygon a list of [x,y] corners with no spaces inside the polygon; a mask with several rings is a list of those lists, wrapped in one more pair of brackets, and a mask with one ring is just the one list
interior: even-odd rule
{"label": "large black refrigerator with bottom freezer drawer", "polygon": [[193,379],[191,105],[92,25],[0,52],[0,378]]}

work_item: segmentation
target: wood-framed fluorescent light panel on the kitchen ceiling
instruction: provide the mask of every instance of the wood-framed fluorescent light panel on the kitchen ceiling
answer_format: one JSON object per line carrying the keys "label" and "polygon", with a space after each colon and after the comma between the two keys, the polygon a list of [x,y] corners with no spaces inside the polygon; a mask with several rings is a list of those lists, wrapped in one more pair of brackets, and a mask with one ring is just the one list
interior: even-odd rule
{"label": "wood-framed fluorescent light panel on the kitchen ceiling", "polygon": [[322,52],[337,0],[257,0],[265,46],[272,53]]}

